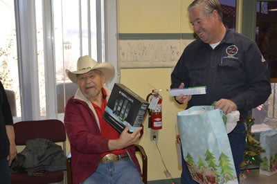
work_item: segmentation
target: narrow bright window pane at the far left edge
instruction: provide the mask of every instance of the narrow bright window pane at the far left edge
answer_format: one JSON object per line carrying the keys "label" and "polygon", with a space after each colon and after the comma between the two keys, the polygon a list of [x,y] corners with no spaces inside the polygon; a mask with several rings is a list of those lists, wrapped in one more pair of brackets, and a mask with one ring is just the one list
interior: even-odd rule
{"label": "narrow bright window pane at the far left edge", "polygon": [[[21,116],[19,77],[17,64],[17,42],[15,35],[15,8],[13,1],[0,1],[0,80],[6,90],[15,93],[17,116]],[[5,17],[5,18],[4,18]]]}

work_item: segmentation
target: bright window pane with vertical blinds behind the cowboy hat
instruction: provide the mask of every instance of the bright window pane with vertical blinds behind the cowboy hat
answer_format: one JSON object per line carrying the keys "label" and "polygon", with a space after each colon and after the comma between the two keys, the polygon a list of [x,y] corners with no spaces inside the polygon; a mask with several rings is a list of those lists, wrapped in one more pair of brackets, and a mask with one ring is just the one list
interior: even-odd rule
{"label": "bright window pane with vertical blinds behind the cowboy hat", "polygon": [[[64,112],[62,107],[76,90],[64,70],[75,71],[80,55],[91,55],[98,61],[104,59],[98,59],[97,39],[102,35],[98,37],[96,29],[97,12],[96,0],[53,1],[57,113]],[[67,86],[74,86],[73,90]]]}

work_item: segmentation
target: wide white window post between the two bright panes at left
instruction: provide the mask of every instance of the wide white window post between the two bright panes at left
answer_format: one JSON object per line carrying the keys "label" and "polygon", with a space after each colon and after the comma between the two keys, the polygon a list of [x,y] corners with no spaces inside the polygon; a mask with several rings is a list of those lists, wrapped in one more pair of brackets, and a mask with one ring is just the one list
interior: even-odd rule
{"label": "wide white window post between the two bright panes at left", "polygon": [[35,0],[15,1],[21,120],[39,119]]}

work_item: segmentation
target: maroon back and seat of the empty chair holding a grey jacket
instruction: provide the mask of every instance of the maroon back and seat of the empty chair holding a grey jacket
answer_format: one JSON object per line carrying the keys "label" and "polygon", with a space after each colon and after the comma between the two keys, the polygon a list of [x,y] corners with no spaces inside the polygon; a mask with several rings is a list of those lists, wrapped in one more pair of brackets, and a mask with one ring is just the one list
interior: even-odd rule
{"label": "maroon back and seat of the empty chair holding a grey jacket", "polygon": [[[66,130],[60,120],[26,120],[16,122],[15,145],[26,145],[28,140],[45,138],[51,142],[62,142],[64,154],[66,154]],[[42,176],[28,176],[27,172],[11,173],[12,184],[46,184],[63,183],[66,171],[46,172]],[[0,182],[1,183],[1,182]],[[67,178],[65,177],[65,183]]]}

